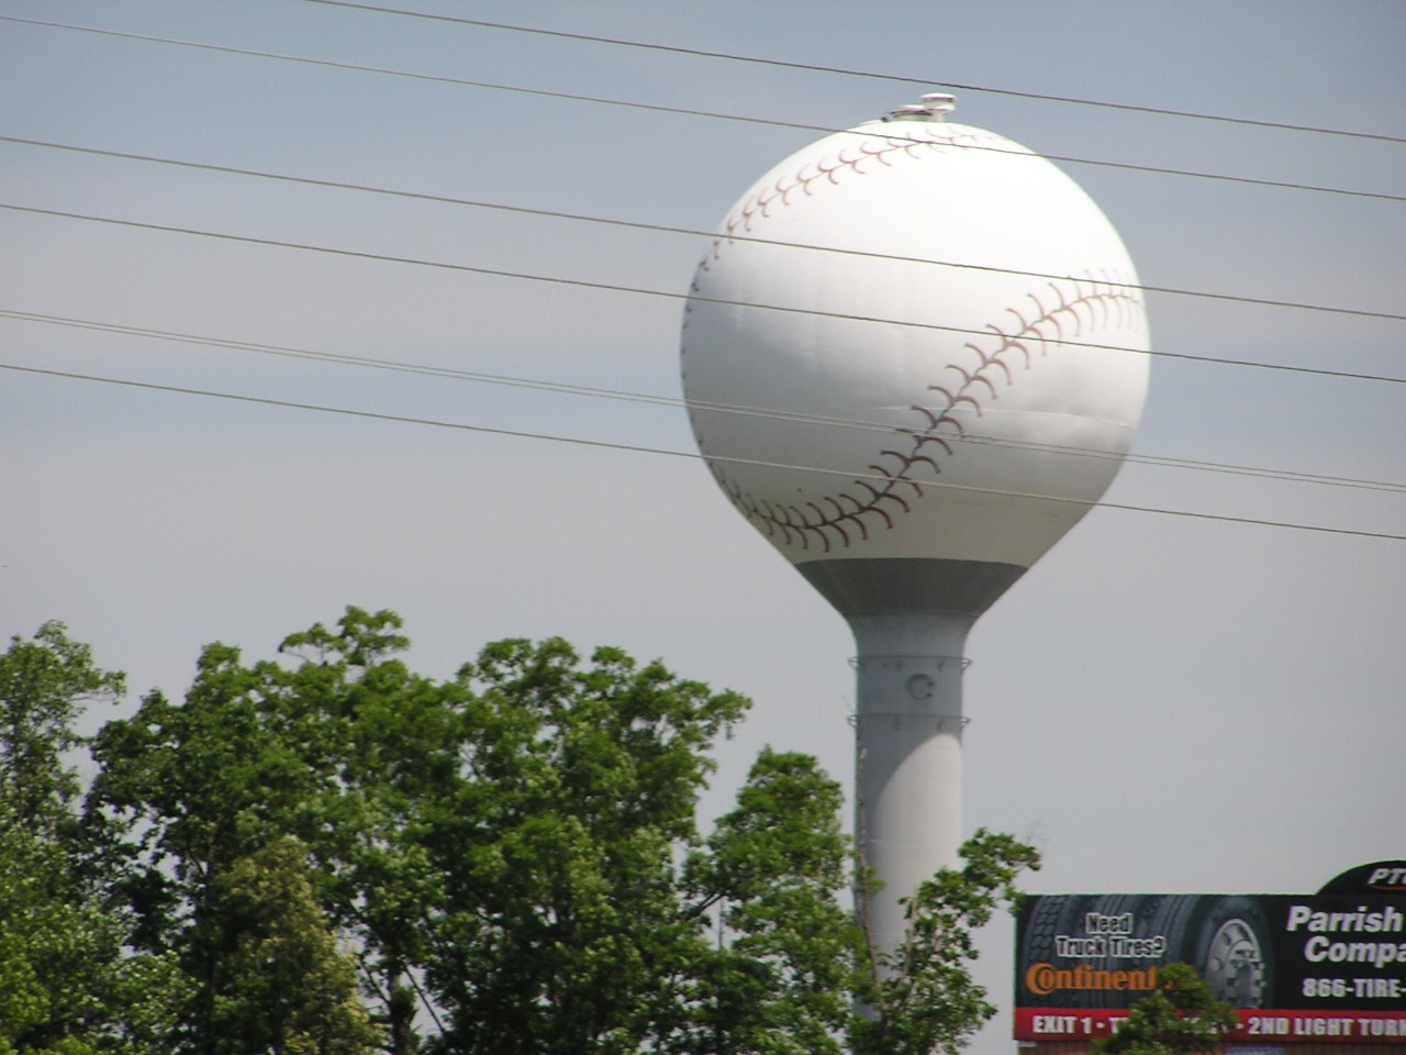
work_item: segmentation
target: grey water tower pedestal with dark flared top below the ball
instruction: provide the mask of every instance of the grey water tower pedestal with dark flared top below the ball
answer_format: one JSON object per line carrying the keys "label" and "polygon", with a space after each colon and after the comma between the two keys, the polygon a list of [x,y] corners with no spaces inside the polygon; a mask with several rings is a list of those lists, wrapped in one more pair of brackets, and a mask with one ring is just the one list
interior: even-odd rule
{"label": "grey water tower pedestal with dark flared top below the ball", "polygon": [[907,930],[900,899],[960,864],[966,637],[1025,568],[935,558],[797,568],[855,634],[855,840],[883,881],[862,916],[870,944],[893,951]]}

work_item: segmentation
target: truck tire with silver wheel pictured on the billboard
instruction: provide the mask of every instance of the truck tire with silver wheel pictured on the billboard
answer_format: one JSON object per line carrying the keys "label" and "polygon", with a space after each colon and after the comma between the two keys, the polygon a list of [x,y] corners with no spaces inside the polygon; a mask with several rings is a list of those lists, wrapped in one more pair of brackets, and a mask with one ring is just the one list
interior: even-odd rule
{"label": "truck tire with silver wheel pictured on the billboard", "polygon": [[1264,910],[1253,897],[1206,897],[1185,958],[1218,1000],[1272,1007],[1274,959]]}

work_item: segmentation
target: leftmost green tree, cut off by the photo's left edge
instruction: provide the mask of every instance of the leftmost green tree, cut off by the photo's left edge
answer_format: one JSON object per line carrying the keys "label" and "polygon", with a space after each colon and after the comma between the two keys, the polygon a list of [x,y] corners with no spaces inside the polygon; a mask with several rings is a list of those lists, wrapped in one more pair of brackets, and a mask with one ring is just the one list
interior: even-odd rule
{"label": "leftmost green tree, cut off by the photo's left edge", "polygon": [[51,622],[0,656],[0,1054],[165,1051],[181,982],[169,957],[131,955],[108,848],[83,829],[65,753],[84,703],[122,677]]}

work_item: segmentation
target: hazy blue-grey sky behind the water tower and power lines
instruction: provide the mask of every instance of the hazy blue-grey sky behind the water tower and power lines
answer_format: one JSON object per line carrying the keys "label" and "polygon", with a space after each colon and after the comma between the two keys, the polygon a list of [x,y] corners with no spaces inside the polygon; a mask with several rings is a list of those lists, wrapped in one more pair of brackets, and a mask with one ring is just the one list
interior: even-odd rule
{"label": "hazy blue-grey sky behind the water tower and power lines", "polygon": [[[766,68],[302,0],[0,0],[0,15],[839,128],[949,84],[1406,135],[1406,8],[1284,3],[609,0],[416,10],[835,66]],[[0,135],[707,229],[818,132],[0,21]],[[1406,146],[956,89],[1035,151],[1402,194]],[[1400,312],[1406,204],[1064,166],[1146,283]],[[0,142],[6,204],[686,290],[704,241]],[[672,297],[0,210],[0,309],[679,395]],[[1403,324],[1150,297],[1159,350],[1406,377]],[[692,452],[683,412],[0,316],[0,363]],[[1109,501],[1406,533],[1406,388],[1154,363]],[[59,618],[136,692],[392,608],[449,675],[562,634],[752,695],[710,807],[765,743],[846,782],[844,623],[689,457],[0,371],[0,630]],[[1299,892],[1406,855],[1406,547],[1099,509],[969,644],[967,826],[1033,838],[1038,892]],[[1010,934],[984,976],[1010,999]],[[976,1051],[1010,1049],[1008,1024]]]}

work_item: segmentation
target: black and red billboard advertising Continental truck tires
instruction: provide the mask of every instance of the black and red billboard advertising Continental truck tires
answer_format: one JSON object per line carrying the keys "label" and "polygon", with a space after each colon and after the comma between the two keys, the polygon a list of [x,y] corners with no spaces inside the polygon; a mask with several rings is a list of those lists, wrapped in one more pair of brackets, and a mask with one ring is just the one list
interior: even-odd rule
{"label": "black and red billboard advertising Continental truck tires", "polygon": [[1015,1038],[1107,1037],[1159,968],[1181,962],[1236,1009],[1230,1040],[1389,1042],[1406,1055],[1406,889],[1355,890],[1026,897]]}

